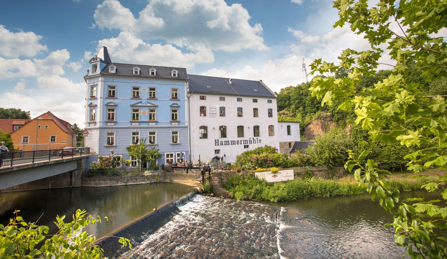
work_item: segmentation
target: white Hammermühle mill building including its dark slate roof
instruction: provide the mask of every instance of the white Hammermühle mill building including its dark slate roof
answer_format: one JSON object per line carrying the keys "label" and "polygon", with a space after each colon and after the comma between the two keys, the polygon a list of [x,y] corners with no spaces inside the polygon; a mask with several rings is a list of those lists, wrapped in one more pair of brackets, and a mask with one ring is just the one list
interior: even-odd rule
{"label": "white Hammerm\u00fchle mill building including its dark slate roof", "polygon": [[188,76],[191,161],[235,162],[245,150],[279,149],[276,95],[261,80]]}

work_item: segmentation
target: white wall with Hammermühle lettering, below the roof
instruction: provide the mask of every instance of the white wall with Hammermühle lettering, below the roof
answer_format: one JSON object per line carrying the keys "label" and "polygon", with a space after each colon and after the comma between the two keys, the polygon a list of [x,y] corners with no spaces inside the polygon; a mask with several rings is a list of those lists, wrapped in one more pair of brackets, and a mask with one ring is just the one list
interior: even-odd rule
{"label": "white wall with Hammerm\u00fchle lettering, below the roof", "polygon": [[[238,102],[238,98],[241,98],[241,102]],[[253,102],[253,99],[257,102]],[[223,116],[220,107],[225,108]],[[238,108],[242,108],[242,117],[238,116]],[[253,109],[257,109],[257,117]],[[236,155],[249,149],[264,145],[279,148],[275,97],[192,93],[189,111],[191,161],[194,163],[198,162],[199,156],[201,162],[211,161],[217,156],[232,163],[236,161]],[[221,126],[226,127],[226,136],[221,136]],[[255,126],[259,127],[259,135],[254,132]]]}

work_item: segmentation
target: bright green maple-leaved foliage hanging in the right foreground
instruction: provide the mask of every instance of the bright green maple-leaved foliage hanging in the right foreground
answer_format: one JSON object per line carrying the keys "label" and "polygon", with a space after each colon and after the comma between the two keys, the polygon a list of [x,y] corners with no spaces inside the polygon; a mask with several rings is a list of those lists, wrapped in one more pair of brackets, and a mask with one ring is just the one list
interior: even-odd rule
{"label": "bright green maple-leaved foliage hanging in the right foreground", "polygon": [[[364,35],[371,49],[344,50],[338,57],[340,65],[316,59],[311,73],[320,76],[312,80],[312,95],[323,98],[322,104],[340,103],[339,109],[354,109],[355,122],[368,131],[372,141],[414,149],[405,156],[410,170],[446,169],[447,102],[441,96],[426,96],[423,91],[426,83],[447,74],[443,69],[447,43],[436,36],[447,25],[446,0],[380,0],[375,6],[369,6],[367,0],[333,3],[340,17],[334,26],[348,24],[353,32]],[[393,61],[385,64],[392,68],[390,75],[372,87],[360,85],[362,77],[376,73],[385,48]],[[339,67],[350,74],[335,78]],[[434,205],[435,201],[401,198],[399,191],[385,181],[388,171],[379,170],[371,159],[366,164],[361,162],[368,153],[357,158],[351,153],[346,168],[356,168],[354,175],[359,183],[366,186],[373,199],[377,195],[380,204],[394,215],[396,244],[406,246],[413,258],[445,258],[447,238],[437,236],[433,229],[446,227],[447,207]],[[433,191],[447,183],[446,174],[438,176],[424,187]],[[442,191],[442,198],[447,199],[447,190]]]}

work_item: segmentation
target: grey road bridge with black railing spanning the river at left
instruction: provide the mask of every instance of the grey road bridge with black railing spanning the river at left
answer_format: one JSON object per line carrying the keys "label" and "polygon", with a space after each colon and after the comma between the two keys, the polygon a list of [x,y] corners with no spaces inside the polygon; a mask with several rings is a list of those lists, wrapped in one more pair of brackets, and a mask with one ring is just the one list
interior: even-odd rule
{"label": "grey road bridge with black railing spanning the river at left", "polygon": [[0,191],[26,183],[33,186],[20,190],[80,186],[89,153],[90,148],[0,153]]}

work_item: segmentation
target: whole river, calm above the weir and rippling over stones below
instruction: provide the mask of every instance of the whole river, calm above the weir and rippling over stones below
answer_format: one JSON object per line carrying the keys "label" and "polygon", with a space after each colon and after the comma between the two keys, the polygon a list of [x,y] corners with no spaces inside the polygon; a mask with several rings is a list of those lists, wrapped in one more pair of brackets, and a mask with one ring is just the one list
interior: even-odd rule
{"label": "whole river, calm above the weir and rippling over stones below", "polygon": [[[159,183],[0,194],[0,220],[21,209],[26,221],[53,225],[55,214],[85,208],[109,222],[86,229],[98,237],[114,232],[177,200],[192,187]],[[440,192],[411,191],[408,197],[437,199]],[[370,195],[308,198],[288,203],[237,201],[196,195],[158,230],[147,231],[130,258],[401,258],[392,215]],[[118,243],[117,243],[118,245]],[[120,254],[121,255],[121,254]],[[118,257],[118,255],[114,255]]]}

